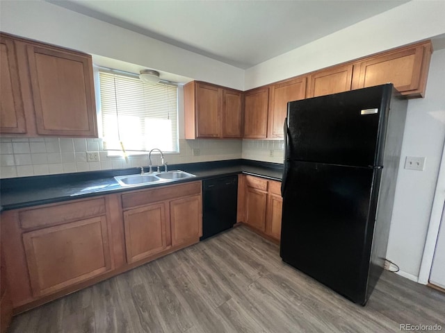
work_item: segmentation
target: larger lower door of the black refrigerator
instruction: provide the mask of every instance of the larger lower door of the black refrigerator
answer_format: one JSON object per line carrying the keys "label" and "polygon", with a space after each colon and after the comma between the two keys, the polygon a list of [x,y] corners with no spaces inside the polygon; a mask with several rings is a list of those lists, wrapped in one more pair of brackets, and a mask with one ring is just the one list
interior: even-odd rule
{"label": "larger lower door of the black refrigerator", "polygon": [[283,196],[284,262],[362,305],[375,220],[371,198],[376,172],[291,161]]}

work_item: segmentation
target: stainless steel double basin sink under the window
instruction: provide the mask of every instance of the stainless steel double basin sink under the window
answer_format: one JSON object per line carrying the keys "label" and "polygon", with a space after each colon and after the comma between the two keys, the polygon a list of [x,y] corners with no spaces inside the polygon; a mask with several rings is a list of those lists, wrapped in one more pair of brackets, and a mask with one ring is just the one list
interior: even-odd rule
{"label": "stainless steel double basin sink under the window", "polygon": [[185,171],[173,170],[166,172],[116,176],[115,180],[118,181],[120,186],[127,187],[127,186],[156,184],[159,182],[174,182],[175,180],[181,180],[184,178],[191,178],[191,177],[196,177],[196,176]]}

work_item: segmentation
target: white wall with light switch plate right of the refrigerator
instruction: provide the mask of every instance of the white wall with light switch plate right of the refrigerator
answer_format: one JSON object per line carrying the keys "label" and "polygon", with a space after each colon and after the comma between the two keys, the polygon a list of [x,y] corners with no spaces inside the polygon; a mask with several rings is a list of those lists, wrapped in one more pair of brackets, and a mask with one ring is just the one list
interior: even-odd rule
{"label": "white wall with light switch plate right of the refrigerator", "polygon": [[[423,246],[445,140],[445,49],[432,53],[425,99],[408,103],[401,164],[426,157],[424,171],[398,171],[387,257],[408,278],[419,276]],[[403,274],[402,273],[402,274]]]}

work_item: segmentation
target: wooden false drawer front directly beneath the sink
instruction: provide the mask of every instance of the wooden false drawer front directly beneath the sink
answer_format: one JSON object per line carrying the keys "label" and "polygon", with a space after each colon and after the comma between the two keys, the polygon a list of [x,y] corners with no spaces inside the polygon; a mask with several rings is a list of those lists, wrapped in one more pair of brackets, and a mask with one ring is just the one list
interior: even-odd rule
{"label": "wooden false drawer front directly beneath the sink", "polygon": [[149,203],[178,198],[180,196],[193,196],[201,193],[201,182],[188,182],[183,185],[170,185],[134,191],[122,194],[122,208],[138,207]]}

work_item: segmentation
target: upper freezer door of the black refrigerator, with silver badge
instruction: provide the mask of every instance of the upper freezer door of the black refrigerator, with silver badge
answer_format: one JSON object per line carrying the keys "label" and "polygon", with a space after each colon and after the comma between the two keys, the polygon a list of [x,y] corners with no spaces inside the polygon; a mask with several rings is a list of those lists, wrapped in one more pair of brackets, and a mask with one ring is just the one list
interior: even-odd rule
{"label": "upper freezer door of the black refrigerator, with silver badge", "polygon": [[392,85],[380,85],[288,105],[290,160],[368,167],[381,165],[379,138]]}

